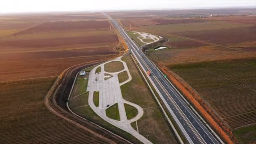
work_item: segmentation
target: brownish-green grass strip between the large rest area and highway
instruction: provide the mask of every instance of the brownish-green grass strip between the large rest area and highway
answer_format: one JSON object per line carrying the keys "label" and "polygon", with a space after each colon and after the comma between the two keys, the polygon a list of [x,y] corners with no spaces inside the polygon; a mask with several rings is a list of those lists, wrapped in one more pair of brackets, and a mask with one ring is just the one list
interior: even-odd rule
{"label": "brownish-green grass strip between the large rest area and highway", "polygon": [[[165,116],[155,102],[155,98],[149,93],[131,56],[125,56],[122,60],[126,62],[132,76],[130,82],[121,86],[123,98],[138,104],[144,110],[144,115],[137,121],[139,133],[152,143],[177,143],[169,124],[165,121]],[[136,130],[136,122],[131,125]]]}

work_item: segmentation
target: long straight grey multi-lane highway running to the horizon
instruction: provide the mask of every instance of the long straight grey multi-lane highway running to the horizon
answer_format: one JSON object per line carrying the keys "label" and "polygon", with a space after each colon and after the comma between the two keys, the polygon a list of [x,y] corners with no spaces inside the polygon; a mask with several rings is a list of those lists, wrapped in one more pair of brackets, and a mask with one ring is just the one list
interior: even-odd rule
{"label": "long straight grey multi-lane highway running to the horizon", "polygon": [[135,56],[136,60],[140,64],[141,68],[147,74],[147,71],[151,72],[151,75],[147,75],[149,81],[152,83],[160,98],[164,102],[168,109],[168,112],[172,115],[176,125],[183,133],[184,138],[189,144],[221,144],[221,139],[211,131],[203,121],[195,114],[195,112],[189,107],[189,105],[182,99],[181,94],[168,83],[163,77],[163,74],[157,69],[147,56],[141,51],[121,27],[117,21],[105,14],[112,24],[117,28],[122,37],[125,39],[130,51]]}

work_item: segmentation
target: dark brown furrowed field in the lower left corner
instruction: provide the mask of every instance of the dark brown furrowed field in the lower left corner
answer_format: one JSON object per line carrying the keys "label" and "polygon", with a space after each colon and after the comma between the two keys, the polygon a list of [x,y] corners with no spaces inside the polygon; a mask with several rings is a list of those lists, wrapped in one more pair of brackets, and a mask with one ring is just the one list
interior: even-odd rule
{"label": "dark brown furrowed field in the lower left corner", "polygon": [[55,79],[0,82],[1,144],[108,143],[49,112],[44,97]]}

